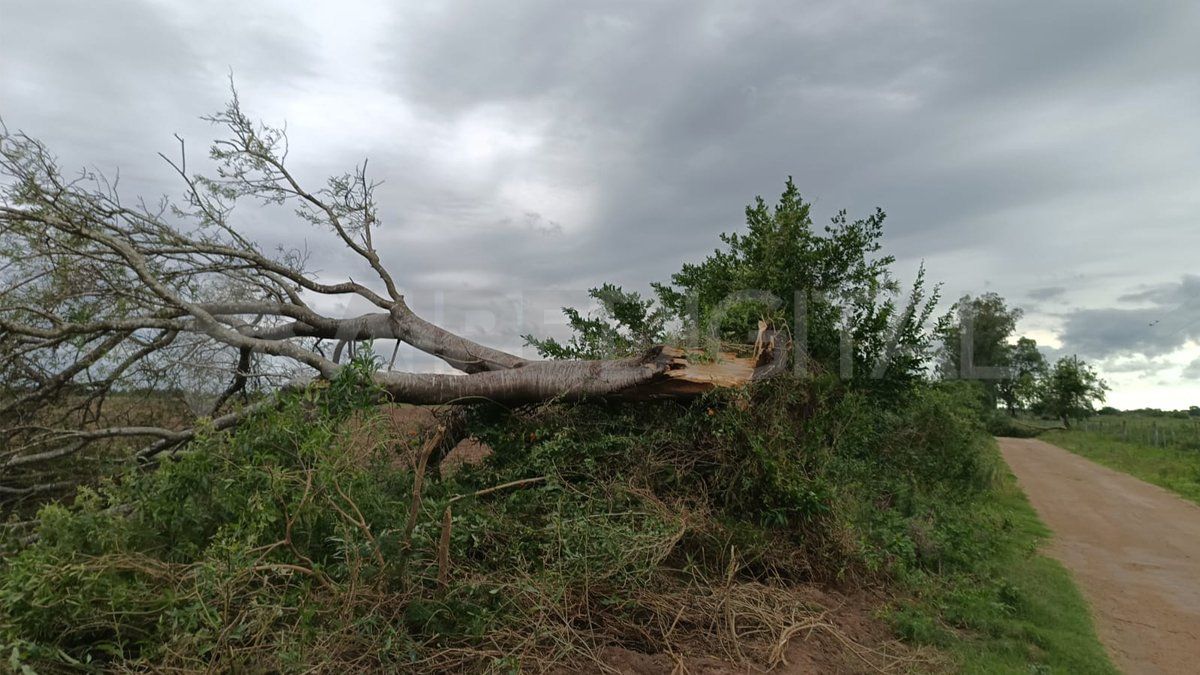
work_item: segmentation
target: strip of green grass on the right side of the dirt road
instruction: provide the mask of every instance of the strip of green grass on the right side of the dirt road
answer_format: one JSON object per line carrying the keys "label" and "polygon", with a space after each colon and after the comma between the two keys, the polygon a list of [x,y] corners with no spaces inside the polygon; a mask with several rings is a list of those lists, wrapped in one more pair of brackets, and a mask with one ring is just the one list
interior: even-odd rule
{"label": "strip of green grass on the right side of the dirt road", "polygon": [[1042,438],[1200,503],[1200,450],[1122,441],[1109,431],[1049,431]]}

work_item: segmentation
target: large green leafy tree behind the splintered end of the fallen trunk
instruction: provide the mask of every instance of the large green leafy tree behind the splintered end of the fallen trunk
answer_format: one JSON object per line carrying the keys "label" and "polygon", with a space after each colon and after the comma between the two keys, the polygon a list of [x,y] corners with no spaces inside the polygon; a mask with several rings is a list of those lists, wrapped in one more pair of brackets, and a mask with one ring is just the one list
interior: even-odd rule
{"label": "large green leafy tree behind the splintered end of the fallen trunk", "polygon": [[823,229],[810,210],[788,179],[776,205],[758,197],[746,207],[744,232],[721,234],[721,249],[684,264],[670,283],[653,285],[656,304],[605,285],[592,291],[604,304],[600,313],[563,310],[575,330],[568,344],[526,340],[551,358],[596,358],[661,341],[668,323],[697,342],[752,344],[766,321],[794,333],[811,371],[841,374],[862,388],[907,390],[932,348],[928,323],[940,287],[928,287],[922,268],[901,293],[890,275],[894,258],[880,255],[882,210],[856,221],[842,211]]}

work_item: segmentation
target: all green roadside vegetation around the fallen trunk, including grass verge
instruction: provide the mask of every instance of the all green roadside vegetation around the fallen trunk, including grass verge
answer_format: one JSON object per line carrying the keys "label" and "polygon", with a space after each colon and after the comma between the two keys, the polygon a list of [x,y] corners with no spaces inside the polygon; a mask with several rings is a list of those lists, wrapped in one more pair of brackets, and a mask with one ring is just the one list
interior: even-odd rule
{"label": "all green roadside vegetation around the fallen trunk, including grass verge", "polygon": [[[947,665],[853,645],[804,592],[817,584],[894,597],[895,629],[952,667],[1108,669],[997,471],[986,393],[924,370],[936,291],[899,293],[875,255],[882,214],[821,233],[788,184],[748,221],[656,300],[601,287],[604,312],[569,311],[575,338],[539,346],[799,325],[772,299],[788,288],[814,331],[798,375],[691,401],[479,404],[414,436],[386,432],[360,356],[6,527],[10,665],[506,671],[618,646],[770,667],[814,632],[863,669]],[[769,293],[724,300],[745,285]],[[491,456],[443,471],[444,438],[464,436]]]}

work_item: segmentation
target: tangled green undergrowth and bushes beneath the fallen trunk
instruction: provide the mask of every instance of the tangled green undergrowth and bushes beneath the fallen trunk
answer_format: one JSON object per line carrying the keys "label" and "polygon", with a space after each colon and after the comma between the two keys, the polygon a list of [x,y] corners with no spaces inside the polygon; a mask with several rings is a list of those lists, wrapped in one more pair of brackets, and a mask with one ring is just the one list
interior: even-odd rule
{"label": "tangled green undergrowth and bushes beneath the fallen trunk", "polygon": [[[883,414],[834,377],[690,405],[476,407],[467,430],[494,454],[427,476],[409,539],[412,448],[346,452],[368,369],[43,508],[36,542],[6,543],[0,646],[32,667],[286,671],[502,667],[481,645],[512,667],[583,663],[598,640],[727,658],[710,626],[666,631],[704,589],[788,598],[978,555],[954,518],[991,465],[953,383]],[[580,607],[582,632],[562,620]],[[738,649],[766,659],[768,643]]]}

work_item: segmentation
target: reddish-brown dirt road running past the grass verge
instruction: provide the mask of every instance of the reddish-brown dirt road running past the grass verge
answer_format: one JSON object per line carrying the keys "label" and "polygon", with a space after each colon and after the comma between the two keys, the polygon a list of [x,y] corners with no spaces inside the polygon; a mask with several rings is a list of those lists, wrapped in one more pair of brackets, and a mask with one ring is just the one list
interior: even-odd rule
{"label": "reddish-brown dirt road running past the grass verge", "polygon": [[1200,507],[1042,441],[1000,449],[1117,667],[1200,673]]}

